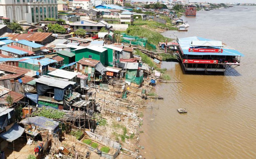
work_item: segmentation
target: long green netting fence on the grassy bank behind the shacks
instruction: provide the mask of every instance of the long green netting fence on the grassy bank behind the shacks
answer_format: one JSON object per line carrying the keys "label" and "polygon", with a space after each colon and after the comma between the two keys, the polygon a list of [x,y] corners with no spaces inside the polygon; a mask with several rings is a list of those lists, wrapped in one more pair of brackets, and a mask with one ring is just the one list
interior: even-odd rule
{"label": "long green netting fence on the grassy bank behind the shacks", "polygon": [[140,45],[142,47],[146,47],[146,45],[150,45],[152,48],[156,49],[156,46],[153,44],[149,44],[147,38],[141,38],[137,36],[130,36],[126,33],[122,33],[122,43],[128,43],[132,45]]}

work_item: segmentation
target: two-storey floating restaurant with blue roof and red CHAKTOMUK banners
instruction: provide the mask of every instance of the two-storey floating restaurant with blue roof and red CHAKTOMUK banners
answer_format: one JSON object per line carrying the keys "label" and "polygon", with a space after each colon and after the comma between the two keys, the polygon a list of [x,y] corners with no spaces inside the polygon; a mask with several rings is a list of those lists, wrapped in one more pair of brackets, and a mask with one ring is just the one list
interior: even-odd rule
{"label": "two-storey floating restaurant with blue roof and red CHAKTOMUK banners", "polygon": [[244,56],[222,41],[188,37],[178,39],[179,55],[185,71],[224,72],[240,66]]}

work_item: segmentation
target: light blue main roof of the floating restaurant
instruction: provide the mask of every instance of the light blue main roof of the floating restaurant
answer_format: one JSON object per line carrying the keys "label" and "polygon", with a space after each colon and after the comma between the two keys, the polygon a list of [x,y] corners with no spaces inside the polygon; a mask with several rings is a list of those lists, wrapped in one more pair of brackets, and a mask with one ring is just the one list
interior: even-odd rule
{"label": "light blue main roof of the floating restaurant", "polygon": [[230,48],[227,45],[224,45],[223,43],[223,52],[222,53],[212,53],[212,52],[189,52],[189,48],[191,47],[191,41],[192,40],[199,40],[199,41],[215,41],[210,39],[205,39],[201,37],[188,37],[188,38],[180,38],[178,39],[178,43],[180,44],[180,47],[183,51],[183,54],[185,55],[222,55],[222,56],[244,56],[239,51],[235,50],[234,48]]}

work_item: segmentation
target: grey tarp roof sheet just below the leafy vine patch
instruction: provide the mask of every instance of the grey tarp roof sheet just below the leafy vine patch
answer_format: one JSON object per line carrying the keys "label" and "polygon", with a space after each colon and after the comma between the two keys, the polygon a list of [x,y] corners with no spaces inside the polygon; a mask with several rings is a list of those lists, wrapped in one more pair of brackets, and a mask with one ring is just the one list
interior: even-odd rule
{"label": "grey tarp roof sheet just below the leafy vine patch", "polygon": [[29,117],[21,120],[20,123],[25,125],[34,124],[41,129],[50,130],[49,132],[54,134],[57,134],[59,131],[59,122],[45,118],[43,116]]}

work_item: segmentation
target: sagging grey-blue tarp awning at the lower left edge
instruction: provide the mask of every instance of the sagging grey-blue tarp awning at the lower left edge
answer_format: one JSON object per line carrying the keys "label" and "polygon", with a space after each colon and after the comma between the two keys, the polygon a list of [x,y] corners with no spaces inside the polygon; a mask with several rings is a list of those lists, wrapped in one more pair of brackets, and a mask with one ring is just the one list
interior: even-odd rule
{"label": "sagging grey-blue tarp awning at the lower left edge", "polygon": [[5,139],[8,142],[12,142],[17,138],[19,138],[24,131],[25,131],[25,128],[22,128],[17,123],[14,123],[13,126],[8,131],[0,134],[0,137]]}

